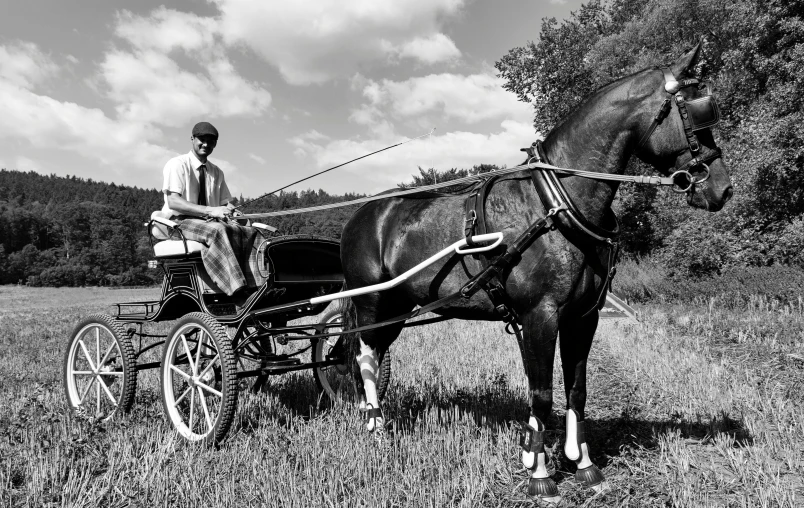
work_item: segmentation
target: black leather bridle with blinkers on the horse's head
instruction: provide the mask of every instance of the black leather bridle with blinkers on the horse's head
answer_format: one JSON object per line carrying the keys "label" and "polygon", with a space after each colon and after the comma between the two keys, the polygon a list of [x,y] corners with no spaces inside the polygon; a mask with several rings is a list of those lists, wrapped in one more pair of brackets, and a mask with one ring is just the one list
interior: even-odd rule
{"label": "black leather bridle with blinkers on the horse's head", "polygon": [[[684,135],[687,138],[687,145],[689,147],[690,159],[680,166],[676,166],[675,171],[670,178],[675,181],[678,177],[685,177],[689,185],[682,187],[681,185],[673,186],[673,191],[678,193],[690,192],[696,184],[703,183],[709,179],[709,164],[714,160],[721,157],[720,148],[711,150],[703,146],[695,134],[696,131],[714,127],[720,121],[720,110],[717,107],[715,98],[707,90],[707,94],[693,100],[686,100],[681,94],[681,90],[687,87],[697,87],[700,83],[697,79],[682,79],[678,81],[673,76],[672,71],[668,68],[662,68],[664,73],[664,89],[667,92],[667,97],[659,108],[659,113],[653,119],[650,128],[642,136],[639,142],[638,150],[650,139],[653,131],[656,130],[665,118],[670,114],[673,102],[676,104],[678,114],[681,116],[681,122],[684,128]],[[675,100],[674,100],[675,99]],[[694,168],[702,167],[705,175],[702,178],[696,179],[692,176],[691,171]]]}

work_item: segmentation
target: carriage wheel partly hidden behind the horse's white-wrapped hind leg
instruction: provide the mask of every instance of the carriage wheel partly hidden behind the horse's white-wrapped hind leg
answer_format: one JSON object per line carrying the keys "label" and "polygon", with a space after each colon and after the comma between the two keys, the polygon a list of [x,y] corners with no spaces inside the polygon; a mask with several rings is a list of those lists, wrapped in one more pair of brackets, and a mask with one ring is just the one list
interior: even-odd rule
{"label": "carriage wheel partly hidden behind the horse's white-wrapped hind leg", "polygon": [[[343,315],[339,309],[331,309],[324,313],[321,323],[340,323]],[[327,328],[329,332],[343,331],[340,327]],[[316,385],[318,389],[325,393],[330,400],[349,400],[357,399],[354,379],[350,366],[347,362],[354,362],[354,358],[349,358],[347,348],[343,347],[342,336],[333,335],[323,339],[318,339],[313,348],[313,361],[323,362],[335,353],[343,356],[343,362],[327,367],[316,367],[313,369]],[[380,362],[380,372],[377,376],[377,396],[382,400],[388,389],[391,380],[391,351],[386,351]]]}

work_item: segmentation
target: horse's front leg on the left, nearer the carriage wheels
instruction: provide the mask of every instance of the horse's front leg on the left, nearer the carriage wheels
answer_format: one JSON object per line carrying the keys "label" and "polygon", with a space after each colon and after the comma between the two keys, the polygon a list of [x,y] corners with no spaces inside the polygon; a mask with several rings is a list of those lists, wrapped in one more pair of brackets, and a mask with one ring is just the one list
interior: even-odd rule
{"label": "horse's front leg on the left, nearer the carriage wheels", "polygon": [[561,496],[550,476],[555,474],[544,448],[544,422],[553,407],[553,360],[558,335],[558,308],[542,301],[522,317],[522,359],[530,387],[531,413],[527,444],[523,444],[522,463],[531,470],[528,495],[547,503],[558,503]]}

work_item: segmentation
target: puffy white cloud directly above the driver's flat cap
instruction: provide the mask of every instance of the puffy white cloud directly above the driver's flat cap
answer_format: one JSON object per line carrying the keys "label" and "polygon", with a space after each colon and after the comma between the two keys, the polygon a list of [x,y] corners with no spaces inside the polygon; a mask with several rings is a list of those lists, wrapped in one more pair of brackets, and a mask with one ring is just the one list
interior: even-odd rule
{"label": "puffy white cloud directly above the driver's flat cap", "polygon": [[[260,116],[271,94],[240,76],[215,43],[211,18],[164,7],[149,16],[124,11],[115,33],[130,49],[112,49],[100,65],[99,81],[121,119],[172,127],[193,118]],[[182,68],[173,52],[203,65]]]}

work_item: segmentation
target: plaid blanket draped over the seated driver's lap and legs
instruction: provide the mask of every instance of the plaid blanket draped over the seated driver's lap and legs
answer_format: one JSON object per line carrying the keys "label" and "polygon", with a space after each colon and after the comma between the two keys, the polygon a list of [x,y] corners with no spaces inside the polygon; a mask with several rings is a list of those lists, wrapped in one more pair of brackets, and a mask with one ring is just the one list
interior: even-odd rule
{"label": "plaid blanket draped over the seated driver's lap and legs", "polygon": [[182,218],[177,222],[186,239],[206,246],[201,250],[204,267],[227,295],[265,282],[257,258],[262,234],[256,228],[197,218]]}

